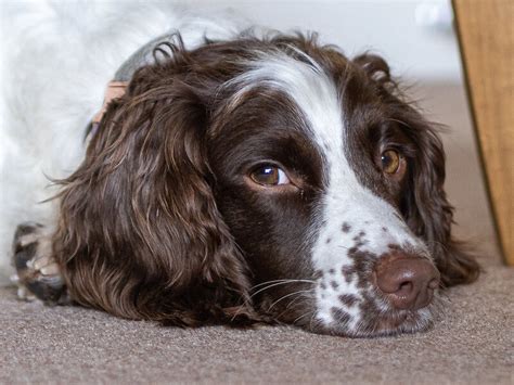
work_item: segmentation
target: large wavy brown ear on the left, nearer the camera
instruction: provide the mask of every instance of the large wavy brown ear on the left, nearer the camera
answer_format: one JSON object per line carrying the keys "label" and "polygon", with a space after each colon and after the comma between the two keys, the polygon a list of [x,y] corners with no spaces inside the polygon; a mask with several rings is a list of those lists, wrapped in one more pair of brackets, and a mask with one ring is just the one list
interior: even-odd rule
{"label": "large wavy brown ear on the left, nearer the camera", "polygon": [[200,92],[176,63],[140,69],[63,181],[53,246],[78,303],[179,325],[257,318],[208,183]]}

